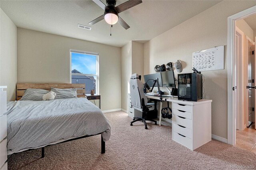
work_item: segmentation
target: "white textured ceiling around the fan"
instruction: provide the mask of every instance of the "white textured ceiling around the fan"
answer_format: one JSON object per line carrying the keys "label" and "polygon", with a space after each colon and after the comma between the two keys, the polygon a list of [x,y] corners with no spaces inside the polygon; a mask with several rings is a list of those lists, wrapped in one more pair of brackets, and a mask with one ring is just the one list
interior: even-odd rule
{"label": "white textured ceiling around the fan", "polygon": [[[106,4],[105,0],[102,0]],[[117,0],[116,6],[126,2]],[[104,14],[92,0],[1,0],[1,9],[17,27],[122,47],[131,40],[148,41],[219,3],[219,0],[142,0],[119,16],[130,26],[104,20],[92,30],[78,28]]]}

